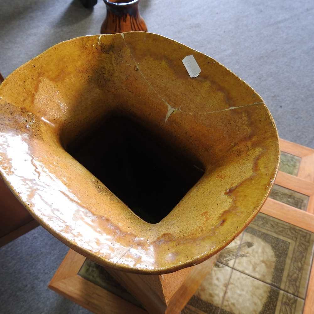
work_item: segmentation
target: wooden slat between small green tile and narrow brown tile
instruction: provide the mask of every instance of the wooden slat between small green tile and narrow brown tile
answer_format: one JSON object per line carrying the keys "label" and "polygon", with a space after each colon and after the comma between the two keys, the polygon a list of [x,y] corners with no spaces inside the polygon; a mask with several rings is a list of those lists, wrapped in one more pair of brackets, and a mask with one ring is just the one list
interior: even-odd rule
{"label": "wooden slat between small green tile and narrow brown tile", "polygon": [[306,181],[296,176],[291,176],[290,174],[282,171],[278,171],[275,183],[308,196],[314,195],[314,182]]}

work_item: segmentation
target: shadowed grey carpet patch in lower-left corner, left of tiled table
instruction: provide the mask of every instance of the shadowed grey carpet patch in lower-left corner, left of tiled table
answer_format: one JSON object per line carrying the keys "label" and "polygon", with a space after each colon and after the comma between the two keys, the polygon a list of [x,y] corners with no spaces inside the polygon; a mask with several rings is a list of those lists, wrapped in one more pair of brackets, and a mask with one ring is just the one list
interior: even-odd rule
{"label": "shadowed grey carpet patch in lower-left corner, left of tiled table", "polygon": [[37,227],[0,249],[0,313],[89,313],[47,285],[68,247]]}

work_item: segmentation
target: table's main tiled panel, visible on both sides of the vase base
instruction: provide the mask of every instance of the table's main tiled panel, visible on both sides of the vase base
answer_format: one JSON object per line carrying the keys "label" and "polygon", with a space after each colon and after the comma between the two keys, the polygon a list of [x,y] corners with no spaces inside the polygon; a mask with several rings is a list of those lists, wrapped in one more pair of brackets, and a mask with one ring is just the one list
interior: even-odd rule
{"label": "table's main tiled panel, visible on both sides of the vase base", "polygon": [[[313,244],[313,233],[258,214],[221,252],[182,313],[302,313]],[[97,264],[86,260],[79,275],[140,306]]]}

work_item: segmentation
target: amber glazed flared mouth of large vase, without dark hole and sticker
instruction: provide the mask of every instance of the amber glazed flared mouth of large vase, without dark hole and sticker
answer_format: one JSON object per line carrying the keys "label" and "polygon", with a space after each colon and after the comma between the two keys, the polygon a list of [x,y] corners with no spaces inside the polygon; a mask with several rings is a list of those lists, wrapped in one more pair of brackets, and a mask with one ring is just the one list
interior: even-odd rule
{"label": "amber glazed flared mouth of large vase, without dark hole and sticker", "polygon": [[[190,78],[181,60],[195,57]],[[159,223],[135,215],[65,150],[111,111],[195,156],[200,180]],[[0,171],[49,232],[89,259],[170,273],[219,252],[273,185],[278,134],[261,97],[214,59],[160,35],[62,42],[0,86]]]}

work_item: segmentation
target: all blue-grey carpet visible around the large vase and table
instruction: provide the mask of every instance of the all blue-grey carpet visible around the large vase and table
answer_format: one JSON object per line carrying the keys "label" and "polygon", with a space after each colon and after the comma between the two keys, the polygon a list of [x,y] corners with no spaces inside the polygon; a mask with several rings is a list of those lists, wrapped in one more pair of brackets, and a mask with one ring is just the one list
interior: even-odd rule
{"label": "all blue-grey carpet visible around the large vase and table", "polygon": [[[312,0],[141,0],[149,31],[201,51],[265,100],[279,136],[314,148]],[[78,0],[2,0],[0,72],[50,46],[98,34],[106,8]],[[0,313],[88,313],[46,288],[68,248],[42,227],[0,251]]]}

